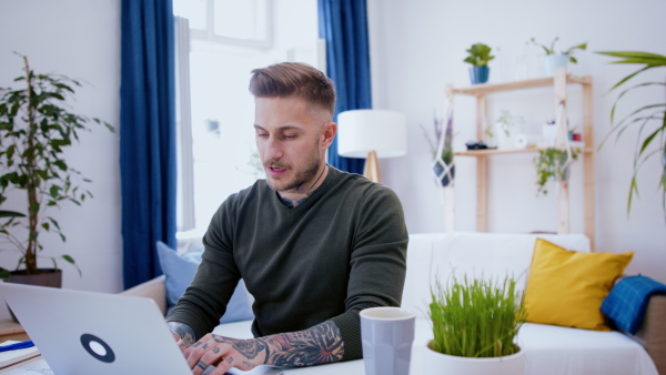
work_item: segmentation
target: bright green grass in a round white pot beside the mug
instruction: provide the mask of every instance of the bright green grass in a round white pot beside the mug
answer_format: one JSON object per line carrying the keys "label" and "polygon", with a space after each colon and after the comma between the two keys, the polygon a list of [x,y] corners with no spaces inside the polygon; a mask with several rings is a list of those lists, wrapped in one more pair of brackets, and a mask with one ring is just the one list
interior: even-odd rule
{"label": "bright green grass in a round white pot beside the mug", "polygon": [[524,374],[516,335],[527,313],[514,278],[436,280],[431,294],[425,374]]}

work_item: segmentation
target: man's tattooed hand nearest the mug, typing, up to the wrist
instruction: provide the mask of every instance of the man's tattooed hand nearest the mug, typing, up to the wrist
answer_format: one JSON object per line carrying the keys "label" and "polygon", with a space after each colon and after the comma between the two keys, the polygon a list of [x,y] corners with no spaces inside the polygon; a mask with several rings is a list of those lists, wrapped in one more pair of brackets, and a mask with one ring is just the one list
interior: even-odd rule
{"label": "man's tattooed hand nearest the mug, typing, up to the wrist", "polygon": [[231,367],[252,369],[266,362],[269,344],[264,338],[238,339],[208,334],[184,352],[192,374],[203,374],[208,366],[216,366],[210,375],[223,375]]}

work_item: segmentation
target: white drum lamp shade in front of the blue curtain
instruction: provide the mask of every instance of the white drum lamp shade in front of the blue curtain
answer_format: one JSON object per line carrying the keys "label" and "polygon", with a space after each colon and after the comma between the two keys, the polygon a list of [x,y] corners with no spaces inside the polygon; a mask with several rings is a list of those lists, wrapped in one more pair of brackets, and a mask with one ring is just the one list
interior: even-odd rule
{"label": "white drum lamp shade in front of the blue curtain", "polygon": [[353,110],[337,115],[337,153],[345,158],[396,158],[407,153],[407,118],[400,112]]}

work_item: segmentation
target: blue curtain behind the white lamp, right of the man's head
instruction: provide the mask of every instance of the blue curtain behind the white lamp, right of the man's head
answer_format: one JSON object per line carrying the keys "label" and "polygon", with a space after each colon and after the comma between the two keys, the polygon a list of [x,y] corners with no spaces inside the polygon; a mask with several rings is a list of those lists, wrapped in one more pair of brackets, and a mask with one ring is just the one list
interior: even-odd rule
{"label": "blue curtain behind the white lamp, right of the man's head", "polygon": [[[337,113],[372,108],[370,50],[365,0],[319,0],[320,38],[326,40],[326,74],[335,82]],[[329,163],[363,173],[365,159],[337,154],[337,138],[329,149]]]}

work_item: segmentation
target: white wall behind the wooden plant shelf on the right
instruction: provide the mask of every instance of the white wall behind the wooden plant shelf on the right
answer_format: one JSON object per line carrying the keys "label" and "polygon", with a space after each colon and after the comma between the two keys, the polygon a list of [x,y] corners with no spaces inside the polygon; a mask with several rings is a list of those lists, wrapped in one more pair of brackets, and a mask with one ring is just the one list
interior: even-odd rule
{"label": "white wall behind the wooden plant shelf on the right", "polygon": [[[444,230],[440,192],[430,174],[430,152],[418,123],[432,129],[433,110],[442,115],[444,85],[468,85],[468,64],[462,60],[473,43],[483,42],[501,53],[491,65],[491,81],[515,77],[516,58],[525,41],[535,37],[549,42],[559,37],[558,47],[568,48],[587,41],[592,51],[638,50],[666,53],[663,41],[666,26],[662,14],[666,2],[642,1],[436,1],[369,0],[373,100],[377,109],[403,111],[408,119],[408,154],[382,160],[384,182],[400,195],[411,233]],[[532,51],[532,72],[543,73],[536,51]],[[594,80],[595,146],[607,134],[609,111],[616,94],[608,89],[632,67],[608,64],[609,58],[589,51],[576,53],[579,60],[569,71],[591,74]],[[501,77],[497,77],[501,75]],[[664,80],[664,70],[653,74]],[[572,99],[581,90],[569,89]],[[653,98],[652,95],[655,95]],[[554,116],[552,91],[536,89],[493,97],[488,118],[501,109],[524,115],[529,126]],[[640,103],[664,101],[663,90],[628,98],[623,113]],[[475,138],[474,101],[455,100],[455,146]],[[581,108],[571,105],[571,121],[581,121]],[[627,273],[642,272],[666,282],[666,222],[662,195],[656,189],[657,159],[639,174],[640,199],[626,215],[628,183],[632,176],[635,132],[628,132],[596,154],[596,251],[636,254]],[[475,230],[475,161],[457,158],[456,230]],[[555,191],[535,197],[532,156],[494,156],[491,160],[488,209],[492,232],[556,231]],[[582,171],[572,180],[572,231],[582,232]]]}

